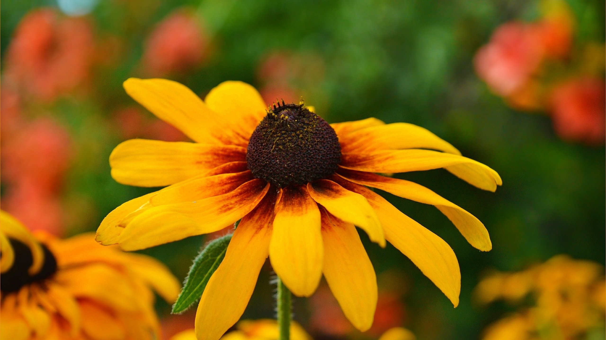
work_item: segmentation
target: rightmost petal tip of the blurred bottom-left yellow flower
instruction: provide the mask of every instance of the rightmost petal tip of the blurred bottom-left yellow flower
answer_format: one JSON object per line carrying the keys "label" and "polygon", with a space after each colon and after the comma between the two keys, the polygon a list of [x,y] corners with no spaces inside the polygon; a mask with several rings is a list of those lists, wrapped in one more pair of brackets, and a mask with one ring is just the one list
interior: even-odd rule
{"label": "rightmost petal tip of the blurred bottom-left yellow flower", "polygon": [[128,255],[130,270],[153,287],[167,302],[175,302],[181,292],[181,283],[170,269],[155,258],[135,253]]}

